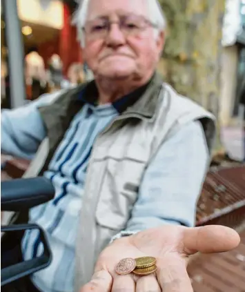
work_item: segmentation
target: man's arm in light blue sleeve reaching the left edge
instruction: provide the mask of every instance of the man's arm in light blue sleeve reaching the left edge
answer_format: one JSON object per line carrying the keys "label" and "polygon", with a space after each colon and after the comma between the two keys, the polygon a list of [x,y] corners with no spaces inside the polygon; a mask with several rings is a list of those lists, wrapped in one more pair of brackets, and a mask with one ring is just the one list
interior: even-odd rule
{"label": "man's arm in light blue sleeve reaching the left edge", "polygon": [[32,159],[46,136],[39,115],[39,106],[45,106],[55,95],[43,95],[36,101],[14,110],[1,112],[1,151],[15,157]]}

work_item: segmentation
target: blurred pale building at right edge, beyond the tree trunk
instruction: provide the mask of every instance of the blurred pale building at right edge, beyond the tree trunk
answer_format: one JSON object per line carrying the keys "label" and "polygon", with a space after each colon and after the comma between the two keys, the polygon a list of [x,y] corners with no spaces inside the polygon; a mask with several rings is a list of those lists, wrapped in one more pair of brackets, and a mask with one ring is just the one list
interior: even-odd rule
{"label": "blurred pale building at right edge, beyond the tree trunk", "polygon": [[238,93],[245,75],[245,0],[226,0],[222,46],[219,118],[227,126],[239,123],[244,110]]}

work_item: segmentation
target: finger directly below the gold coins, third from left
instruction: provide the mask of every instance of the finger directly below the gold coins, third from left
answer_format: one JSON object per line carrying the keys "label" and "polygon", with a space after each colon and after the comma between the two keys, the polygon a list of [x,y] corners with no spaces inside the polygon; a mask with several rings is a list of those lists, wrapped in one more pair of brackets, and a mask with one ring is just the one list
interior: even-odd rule
{"label": "finger directly below the gold coins, third from left", "polygon": [[136,283],[136,292],[161,292],[156,275],[139,277]]}

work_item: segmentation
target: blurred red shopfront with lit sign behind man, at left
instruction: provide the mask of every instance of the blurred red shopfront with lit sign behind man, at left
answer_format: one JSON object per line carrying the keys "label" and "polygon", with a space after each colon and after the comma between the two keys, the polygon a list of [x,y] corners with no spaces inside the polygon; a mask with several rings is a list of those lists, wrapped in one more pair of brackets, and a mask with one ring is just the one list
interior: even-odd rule
{"label": "blurred red shopfront with lit sign behind man, at left", "polygon": [[[14,14],[14,4],[17,6],[17,15]],[[82,52],[77,42],[77,30],[71,24],[76,8],[75,0],[1,1],[2,107],[14,106],[13,102],[11,104],[14,95],[14,88],[10,86],[11,58],[14,58],[14,54],[21,56],[21,50],[26,99],[32,100],[42,93],[83,81]],[[19,18],[19,28],[11,26],[11,32],[8,30],[9,14],[12,19]],[[13,48],[8,37],[18,37],[18,30],[21,41]]]}

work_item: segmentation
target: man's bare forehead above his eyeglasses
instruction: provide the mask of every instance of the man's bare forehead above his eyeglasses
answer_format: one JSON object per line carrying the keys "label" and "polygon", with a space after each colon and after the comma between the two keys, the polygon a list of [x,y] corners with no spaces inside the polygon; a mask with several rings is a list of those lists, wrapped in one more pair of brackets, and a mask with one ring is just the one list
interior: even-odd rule
{"label": "man's bare forehead above his eyeglasses", "polygon": [[112,14],[139,14],[148,17],[146,0],[90,0],[87,20]]}

